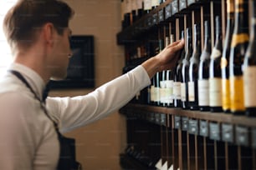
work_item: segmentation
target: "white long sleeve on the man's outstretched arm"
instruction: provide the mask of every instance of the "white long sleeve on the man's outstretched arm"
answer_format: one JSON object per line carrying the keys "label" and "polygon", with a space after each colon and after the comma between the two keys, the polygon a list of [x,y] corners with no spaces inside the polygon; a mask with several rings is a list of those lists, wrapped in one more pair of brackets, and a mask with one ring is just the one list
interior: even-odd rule
{"label": "white long sleeve on the man's outstretched arm", "polygon": [[144,67],[115,78],[87,95],[79,97],[48,97],[47,107],[59,122],[62,133],[106,117],[124,106],[142,88],[151,83]]}

